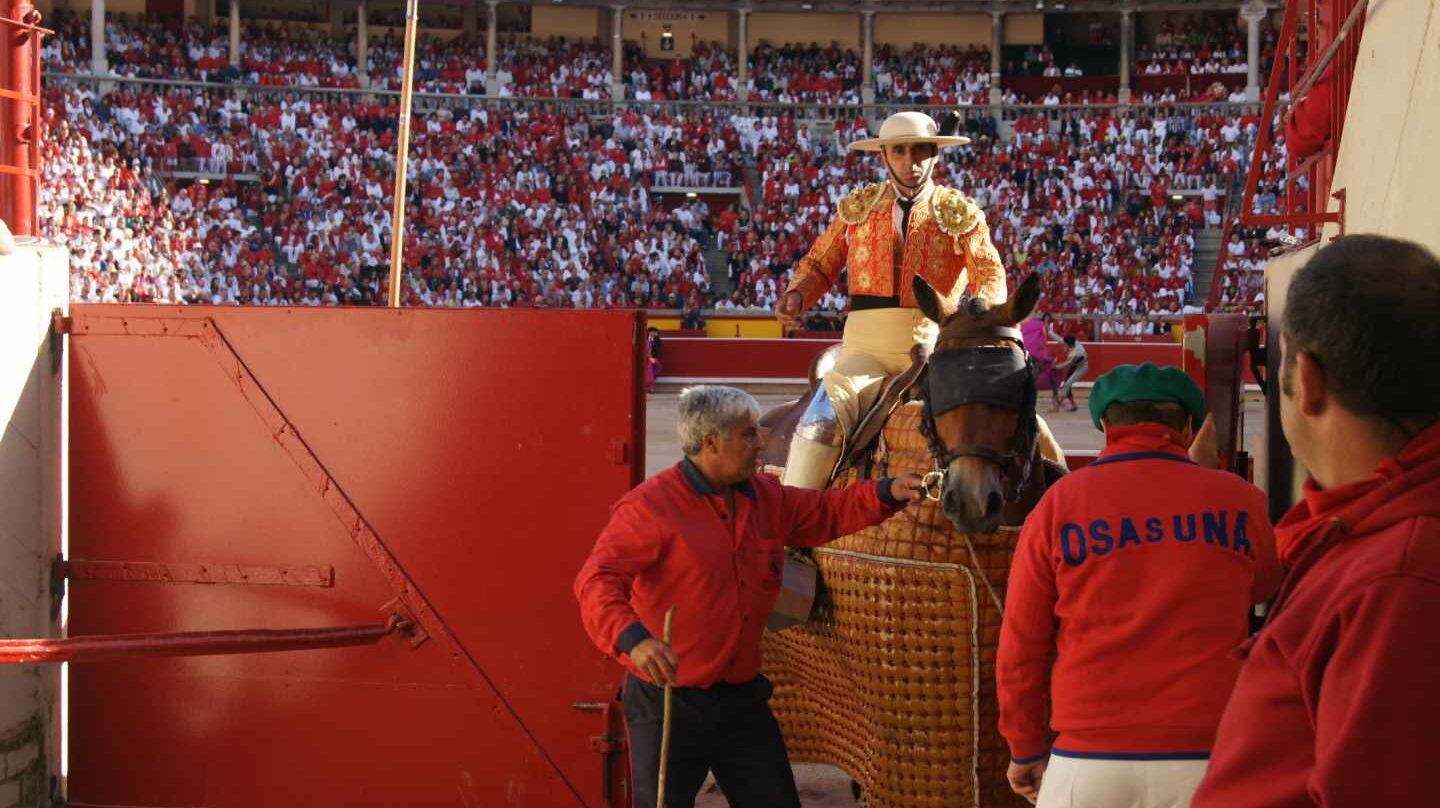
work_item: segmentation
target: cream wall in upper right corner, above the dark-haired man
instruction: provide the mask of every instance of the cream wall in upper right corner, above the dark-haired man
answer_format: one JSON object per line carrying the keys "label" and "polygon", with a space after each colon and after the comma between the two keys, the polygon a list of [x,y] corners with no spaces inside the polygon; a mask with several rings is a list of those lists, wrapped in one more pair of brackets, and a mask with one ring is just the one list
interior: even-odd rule
{"label": "cream wall in upper right corner, above the dark-haired man", "polygon": [[[1332,183],[1345,190],[1346,233],[1385,233],[1440,252],[1437,131],[1436,6],[1371,3]],[[1331,209],[1336,206],[1332,200]],[[1325,230],[1326,236],[1336,232],[1333,225]]]}

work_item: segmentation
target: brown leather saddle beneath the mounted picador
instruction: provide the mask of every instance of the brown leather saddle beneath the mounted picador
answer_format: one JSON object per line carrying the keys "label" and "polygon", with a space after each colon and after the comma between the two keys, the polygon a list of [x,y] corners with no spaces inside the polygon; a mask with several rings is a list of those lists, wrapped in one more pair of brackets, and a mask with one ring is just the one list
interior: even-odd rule
{"label": "brown leather saddle beneath the mounted picador", "polygon": [[[766,470],[780,470],[785,467],[786,457],[791,452],[791,439],[795,436],[795,428],[799,425],[805,409],[815,399],[815,396],[819,395],[822,389],[821,379],[835,363],[835,357],[838,354],[840,346],[831,346],[816,354],[811,362],[809,392],[793,402],[786,402],[772,408],[760,416],[760,426],[770,431],[765,454],[760,457]],[[845,435],[845,445],[841,451],[840,462],[835,464],[834,470],[831,470],[829,480],[835,480],[851,468],[868,465],[873,454],[871,449],[884,434],[886,419],[890,418],[890,413],[893,413],[897,406],[917,396],[919,383],[924,376],[926,367],[929,367],[929,362],[930,354],[927,346],[914,346],[910,349],[910,367],[884,380],[880,398],[876,399],[876,403],[868,410],[865,410],[854,432]],[[863,474],[863,477],[868,477],[868,474]]]}

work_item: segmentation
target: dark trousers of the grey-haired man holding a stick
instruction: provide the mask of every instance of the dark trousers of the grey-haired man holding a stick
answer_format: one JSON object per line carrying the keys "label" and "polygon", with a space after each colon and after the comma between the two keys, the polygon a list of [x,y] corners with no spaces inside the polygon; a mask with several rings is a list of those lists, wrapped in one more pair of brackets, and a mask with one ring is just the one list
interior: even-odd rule
{"label": "dark trousers of the grey-haired man holding a stick", "polygon": [[[799,808],[780,724],[770,713],[770,680],[674,688],[665,808],[693,808],[708,772],[733,808]],[[625,678],[631,789],[635,808],[655,808],[665,688]]]}

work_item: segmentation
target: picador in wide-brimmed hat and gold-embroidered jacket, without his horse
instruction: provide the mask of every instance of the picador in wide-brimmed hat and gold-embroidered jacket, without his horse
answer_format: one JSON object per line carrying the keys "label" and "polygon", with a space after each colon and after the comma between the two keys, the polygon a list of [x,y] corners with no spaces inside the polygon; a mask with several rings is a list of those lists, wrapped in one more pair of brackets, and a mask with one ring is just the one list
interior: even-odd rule
{"label": "picador in wide-brimmed hat and gold-embroidered jacket, without his horse", "polygon": [[937,326],[920,313],[912,279],[940,295],[1005,301],[1005,268],[981,209],[958,190],[930,181],[939,150],[969,138],[940,134],[924,112],[899,112],[880,135],[850,144],[880,154],[887,181],[852,190],[838,216],[795,268],[776,313],[789,328],[850,269],[850,317],[840,359],[825,374],[791,441],[785,482],[821,488],[845,435],[876,402],[886,376],[910,366],[910,349],[933,344]]}

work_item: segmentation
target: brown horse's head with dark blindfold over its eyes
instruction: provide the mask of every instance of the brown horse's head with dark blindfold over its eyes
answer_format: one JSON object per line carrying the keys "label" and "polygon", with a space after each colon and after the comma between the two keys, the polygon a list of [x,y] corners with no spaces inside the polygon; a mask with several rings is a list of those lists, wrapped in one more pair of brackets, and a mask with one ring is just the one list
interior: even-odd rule
{"label": "brown horse's head with dark blindfold over its eyes", "polygon": [[922,423],[936,462],[927,482],[956,529],[994,533],[1038,471],[1035,376],[1015,324],[1035,308],[1040,275],[995,307],[981,298],[952,307],[919,277],[914,297],[940,324],[924,382]]}

